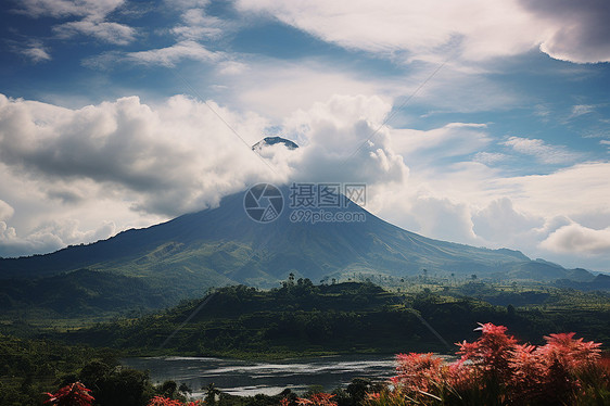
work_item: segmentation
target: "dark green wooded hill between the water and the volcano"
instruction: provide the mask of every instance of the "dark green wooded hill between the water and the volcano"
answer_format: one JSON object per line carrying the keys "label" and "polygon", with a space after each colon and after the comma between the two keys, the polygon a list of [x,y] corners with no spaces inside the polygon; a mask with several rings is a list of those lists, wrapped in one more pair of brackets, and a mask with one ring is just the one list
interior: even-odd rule
{"label": "dark green wooded hill between the water and the volcano", "polygon": [[492,305],[461,295],[460,290],[472,288],[466,284],[437,292],[423,288],[398,293],[372,283],[314,286],[307,279],[290,279],[270,291],[221,288],[157,314],[98,323],[61,337],[131,355],[285,357],[453,352],[454,342],[475,337],[474,332],[465,335],[465,326],[493,320],[532,343],[557,331],[579,331],[595,341],[610,341],[610,301],[605,294],[561,290],[488,293],[490,301],[494,296],[520,299],[521,304],[523,297],[534,302],[520,307],[517,301],[517,305]]}

